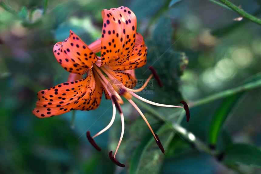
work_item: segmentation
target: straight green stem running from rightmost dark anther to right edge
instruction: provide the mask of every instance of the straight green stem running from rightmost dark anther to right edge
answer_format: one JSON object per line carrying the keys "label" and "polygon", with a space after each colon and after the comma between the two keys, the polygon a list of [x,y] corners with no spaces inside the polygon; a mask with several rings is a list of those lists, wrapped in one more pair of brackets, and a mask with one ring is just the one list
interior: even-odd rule
{"label": "straight green stem running from rightmost dark anther to right edge", "polygon": [[233,88],[233,89],[228,89],[228,90],[219,92],[217,94],[211,95],[211,96],[206,97],[204,99],[200,99],[200,100],[195,101],[195,102],[189,102],[188,105],[189,105],[189,107],[202,105],[202,104],[209,103],[209,102],[212,102],[212,101],[217,100],[217,99],[221,99],[221,98],[224,98],[224,97],[234,95],[234,94],[239,93],[239,92],[258,88],[260,86],[261,86],[261,80],[258,80],[256,82],[246,83],[245,85],[241,85],[241,86]]}

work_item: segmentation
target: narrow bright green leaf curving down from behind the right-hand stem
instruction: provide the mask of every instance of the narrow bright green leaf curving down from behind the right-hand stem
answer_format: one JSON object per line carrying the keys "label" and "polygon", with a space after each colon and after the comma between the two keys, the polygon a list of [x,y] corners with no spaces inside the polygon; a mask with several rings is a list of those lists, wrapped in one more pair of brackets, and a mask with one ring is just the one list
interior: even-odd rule
{"label": "narrow bright green leaf curving down from behind the right-hand stem", "polygon": [[[247,79],[243,84],[249,82],[255,82],[260,80],[261,73],[254,75],[253,77]],[[240,92],[230,97],[227,97],[223,100],[223,102],[217,108],[214,116],[212,117],[209,129],[208,129],[208,143],[211,145],[215,145],[217,143],[217,139],[219,136],[220,129],[224,125],[225,121],[228,119],[229,114],[231,113],[234,106],[237,104],[239,99],[244,95],[245,92]]]}

